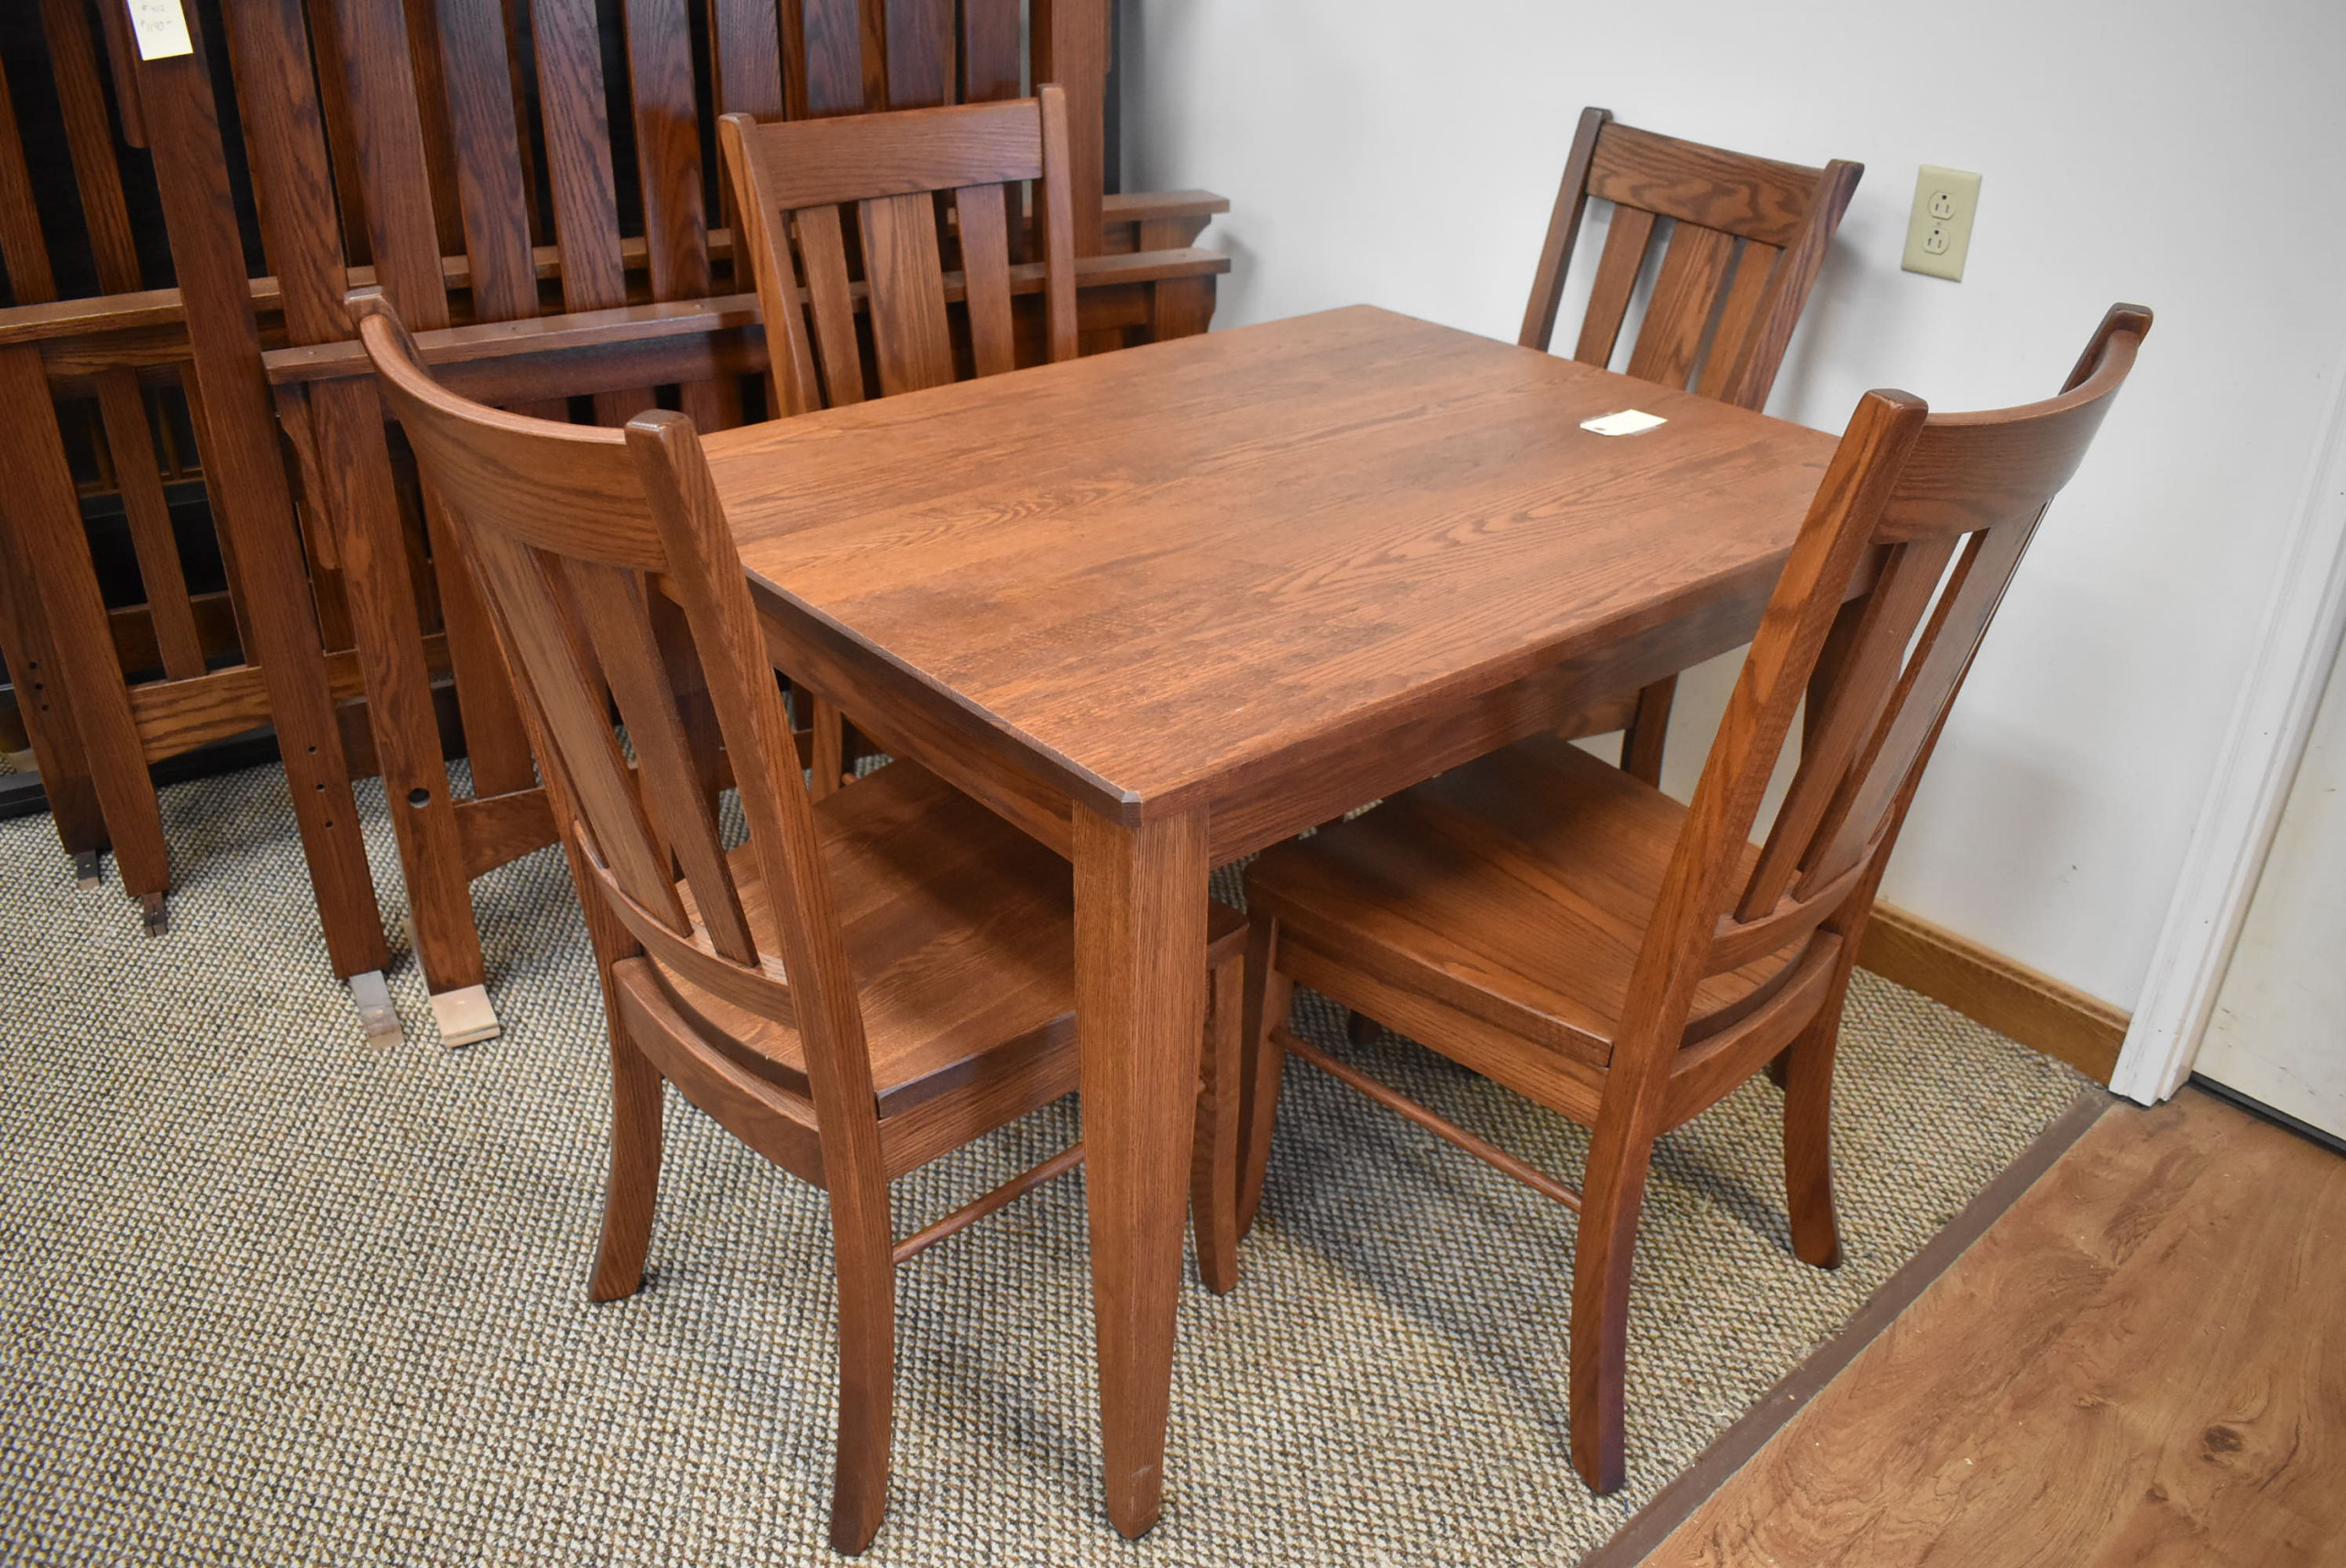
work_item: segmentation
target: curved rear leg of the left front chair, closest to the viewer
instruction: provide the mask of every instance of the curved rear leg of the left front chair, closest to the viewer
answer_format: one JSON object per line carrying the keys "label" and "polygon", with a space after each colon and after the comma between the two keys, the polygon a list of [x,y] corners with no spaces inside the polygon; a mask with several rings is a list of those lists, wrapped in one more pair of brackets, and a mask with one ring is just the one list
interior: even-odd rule
{"label": "curved rear leg of the left front chair, closest to the viewer", "polygon": [[896,1261],[880,1202],[830,1205],[840,1270],[840,1444],[830,1472],[830,1549],[873,1545],[887,1514],[889,1439],[896,1425]]}

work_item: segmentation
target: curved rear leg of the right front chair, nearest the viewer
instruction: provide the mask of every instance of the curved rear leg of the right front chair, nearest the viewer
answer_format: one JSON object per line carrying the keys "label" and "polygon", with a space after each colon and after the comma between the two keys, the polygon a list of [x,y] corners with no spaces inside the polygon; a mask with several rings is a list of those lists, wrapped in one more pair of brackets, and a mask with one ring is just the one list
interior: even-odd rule
{"label": "curved rear leg of the right front chair, nearest the viewer", "polygon": [[1628,1277],[1654,1134],[1598,1120],[1572,1252],[1572,1467],[1595,1493],[1621,1486]]}

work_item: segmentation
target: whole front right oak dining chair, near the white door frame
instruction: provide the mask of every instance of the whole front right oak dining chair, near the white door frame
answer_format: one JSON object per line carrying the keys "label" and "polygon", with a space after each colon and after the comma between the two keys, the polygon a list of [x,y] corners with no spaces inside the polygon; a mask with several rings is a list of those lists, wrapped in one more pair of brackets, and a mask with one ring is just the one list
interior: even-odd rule
{"label": "whole front right oak dining chair, near the white door frame", "polygon": [[[1264,853],[1246,879],[1246,1160],[1236,1214],[1215,1219],[1253,1223],[1288,1055],[1577,1209],[1572,1460],[1616,1488],[1654,1139],[1781,1057],[1792,1249],[1839,1261],[1832,1052],[1874,886],[2020,553],[2149,323],[2111,307],[2043,403],[1858,401],[1689,806],[1539,736]],[[1802,698],[1799,766],[1755,846]],[[1295,984],[1588,1125],[1584,1186],[1302,1041],[1286,1024]]]}

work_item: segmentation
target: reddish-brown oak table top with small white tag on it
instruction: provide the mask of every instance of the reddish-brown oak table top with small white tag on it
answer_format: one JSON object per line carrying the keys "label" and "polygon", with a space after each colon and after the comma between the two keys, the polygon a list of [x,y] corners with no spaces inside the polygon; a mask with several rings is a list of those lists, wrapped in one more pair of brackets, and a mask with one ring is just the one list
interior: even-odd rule
{"label": "reddish-brown oak table top with small white tag on it", "polygon": [[1832,448],[1375,307],[706,436],[765,614],[1124,820],[1706,605],[1675,656],[1734,647]]}

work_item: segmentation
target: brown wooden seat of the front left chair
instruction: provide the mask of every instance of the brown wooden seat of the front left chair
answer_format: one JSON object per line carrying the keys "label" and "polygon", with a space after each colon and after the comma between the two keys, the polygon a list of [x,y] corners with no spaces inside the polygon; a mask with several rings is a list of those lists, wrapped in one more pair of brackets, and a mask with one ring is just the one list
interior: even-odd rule
{"label": "brown wooden seat of the front left chair", "polygon": [[[1060,1057],[1074,1088],[1072,867],[936,773],[891,762],[816,802],[823,863],[847,959],[863,994],[863,1036],[882,1118],[990,1071]],[[758,949],[781,933],[748,846],[727,858]],[[685,907],[699,919],[687,884]],[[1208,902],[1215,956],[1246,940],[1246,916]],[[1199,966],[1208,954],[1199,954]],[[760,1078],[809,1095],[798,1031],[659,968],[678,1010]]]}

